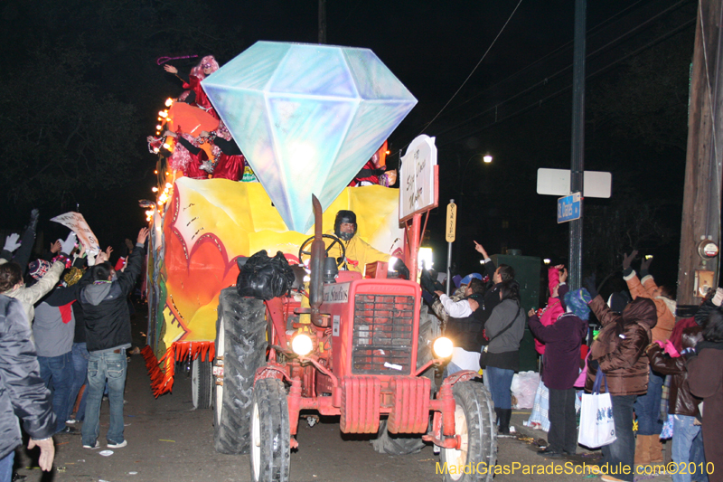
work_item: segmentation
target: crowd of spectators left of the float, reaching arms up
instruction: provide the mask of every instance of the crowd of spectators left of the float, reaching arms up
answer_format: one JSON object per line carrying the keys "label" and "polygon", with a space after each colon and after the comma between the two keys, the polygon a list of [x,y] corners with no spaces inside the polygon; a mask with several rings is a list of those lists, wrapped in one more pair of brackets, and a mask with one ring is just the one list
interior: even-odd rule
{"label": "crowd of spectators left of the float, reaching arms up", "polygon": [[[10,234],[0,253],[0,482],[13,474],[23,430],[40,447],[40,467],[52,468],[53,437],[80,435],[99,447],[99,408],[110,401],[108,447],[123,435],[126,349],[131,344],[128,294],[142,270],[148,230],[127,262],[109,262],[110,248],[88,252],[76,235],[55,241],[31,260],[40,213],[22,237]],[[82,430],[74,425],[83,421]]]}

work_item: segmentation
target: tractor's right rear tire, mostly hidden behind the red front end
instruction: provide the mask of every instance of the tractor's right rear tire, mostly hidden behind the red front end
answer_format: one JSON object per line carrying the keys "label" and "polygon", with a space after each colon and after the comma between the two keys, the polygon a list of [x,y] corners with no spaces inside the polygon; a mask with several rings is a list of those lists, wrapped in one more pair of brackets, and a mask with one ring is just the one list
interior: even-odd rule
{"label": "tractor's right rear tire, mostly hidden behind the red front end", "polygon": [[[439,320],[429,313],[426,305],[422,306],[419,313],[419,336],[417,344],[417,368],[427,364],[434,358],[432,344],[439,336]],[[427,371],[421,374],[432,381],[432,393],[437,392],[435,383],[435,367],[430,366]],[[431,393],[430,393],[431,395]],[[380,454],[387,455],[408,455],[417,453],[425,446],[422,434],[418,436],[401,436],[390,434],[387,430],[387,421],[380,421],[377,438],[371,440],[371,446]]]}

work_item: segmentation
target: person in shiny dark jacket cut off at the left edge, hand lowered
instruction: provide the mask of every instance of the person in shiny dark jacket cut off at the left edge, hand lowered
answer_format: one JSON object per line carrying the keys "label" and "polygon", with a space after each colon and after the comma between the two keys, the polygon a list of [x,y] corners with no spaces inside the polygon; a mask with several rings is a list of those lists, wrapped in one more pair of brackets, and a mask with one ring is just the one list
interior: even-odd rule
{"label": "person in shiny dark jacket cut off at the left edge, hand lowered", "polygon": [[0,480],[12,477],[14,449],[23,443],[18,419],[30,435],[28,448],[40,447],[40,467],[50,470],[55,457],[51,392],[40,377],[23,306],[0,295]]}

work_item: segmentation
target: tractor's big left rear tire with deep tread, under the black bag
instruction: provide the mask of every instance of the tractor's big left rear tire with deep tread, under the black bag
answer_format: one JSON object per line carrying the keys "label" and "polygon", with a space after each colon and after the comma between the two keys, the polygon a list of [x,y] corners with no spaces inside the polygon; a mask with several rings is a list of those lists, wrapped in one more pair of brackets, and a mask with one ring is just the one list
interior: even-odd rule
{"label": "tractor's big left rear tire with deep tread, under the black bag", "polygon": [[266,363],[266,307],[230,287],[221,290],[218,313],[215,364],[223,368],[223,384],[214,385],[213,445],[222,454],[245,454],[254,376]]}

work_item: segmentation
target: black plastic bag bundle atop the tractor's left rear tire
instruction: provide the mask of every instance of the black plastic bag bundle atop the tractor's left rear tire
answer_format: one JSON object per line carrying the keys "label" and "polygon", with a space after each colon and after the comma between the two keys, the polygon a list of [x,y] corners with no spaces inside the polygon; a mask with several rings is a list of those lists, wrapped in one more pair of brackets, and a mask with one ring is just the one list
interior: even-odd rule
{"label": "black plastic bag bundle atop the tractor's left rear tire", "polygon": [[281,251],[269,258],[266,250],[260,250],[237,263],[240,272],[236,289],[241,297],[277,298],[288,293],[294,284],[294,271]]}

